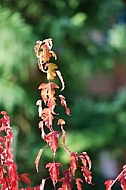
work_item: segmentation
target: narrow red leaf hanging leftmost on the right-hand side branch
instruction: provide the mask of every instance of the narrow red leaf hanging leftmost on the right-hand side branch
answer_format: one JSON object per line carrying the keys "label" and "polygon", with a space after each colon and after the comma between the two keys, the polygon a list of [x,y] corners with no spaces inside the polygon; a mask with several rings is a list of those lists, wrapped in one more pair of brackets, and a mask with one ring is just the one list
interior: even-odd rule
{"label": "narrow red leaf hanging leftmost on the right-hand side branch", "polygon": [[70,169],[71,169],[71,173],[74,176],[75,175],[75,171],[78,168],[78,157],[77,157],[77,153],[72,152],[70,154]]}

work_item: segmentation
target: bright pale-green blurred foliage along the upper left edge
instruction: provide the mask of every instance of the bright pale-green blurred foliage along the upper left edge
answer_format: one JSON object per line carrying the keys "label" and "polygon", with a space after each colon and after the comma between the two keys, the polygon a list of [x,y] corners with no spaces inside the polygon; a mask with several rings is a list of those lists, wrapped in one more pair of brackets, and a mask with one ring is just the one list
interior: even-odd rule
{"label": "bright pale-green blurred foliage along the upper left edge", "polygon": [[19,13],[1,7],[0,28],[0,105],[12,113],[27,98],[22,84],[29,80],[29,68],[33,68],[33,34]]}

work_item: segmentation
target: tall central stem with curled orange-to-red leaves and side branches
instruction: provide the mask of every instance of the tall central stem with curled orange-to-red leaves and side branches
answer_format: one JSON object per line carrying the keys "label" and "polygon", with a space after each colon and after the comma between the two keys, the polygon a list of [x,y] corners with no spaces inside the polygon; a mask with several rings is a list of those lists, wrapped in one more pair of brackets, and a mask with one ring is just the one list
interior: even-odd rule
{"label": "tall central stem with curled orange-to-red leaves and side branches", "polygon": [[[56,89],[59,89],[59,86],[52,82],[54,78],[58,76],[61,81],[62,88],[60,91],[64,90],[65,83],[60,71],[58,70],[58,66],[50,62],[51,57],[57,59],[56,54],[54,51],[52,51],[52,45],[52,39],[49,38],[43,41],[37,41],[37,44],[34,47],[36,57],[38,58],[38,67],[42,72],[46,73],[48,80],[47,83],[42,83],[39,86],[39,89],[41,90],[41,100],[37,101],[39,117],[41,118],[41,121],[39,122],[39,128],[42,134],[41,137],[47,143],[45,148],[49,146],[52,151],[52,161],[47,163],[45,166],[48,168],[50,177],[43,179],[42,184],[44,186],[45,181],[50,178],[53,182],[54,189],[56,189],[56,184],[60,182],[62,185],[58,190],[65,190],[72,189],[72,181],[75,181],[77,189],[81,190],[84,180],[87,183],[92,184],[92,173],[90,171],[91,159],[86,152],[71,152],[66,146],[66,131],[64,129],[65,121],[62,118],[57,119],[58,114],[55,113],[57,99],[60,100],[61,106],[65,108],[67,115],[70,115],[70,109],[68,108],[66,99],[63,95],[55,95]],[[54,129],[54,119],[57,119],[57,126],[60,126],[61,133]],[[45,128],[48,129],[48,133],[45,133]],[[59,147],[60,136],[62,137],[60,146],[62,146],[69,155],[69,168],[63,172],[63,175],[59,169],[62,167],[62,164],[55,161],[55,155]],[[38,156],[36,157],[35,165],[37,172],[39,171],[39,160],[45,148],[40,149]],[[77,169],[81,170],[84,179],[76,177]]]}

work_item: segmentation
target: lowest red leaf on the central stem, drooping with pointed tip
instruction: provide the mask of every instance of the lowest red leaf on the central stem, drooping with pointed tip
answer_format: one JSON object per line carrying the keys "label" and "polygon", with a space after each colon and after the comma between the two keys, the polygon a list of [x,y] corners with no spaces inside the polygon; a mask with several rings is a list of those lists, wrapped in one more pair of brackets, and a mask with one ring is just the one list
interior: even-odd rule
{"label": "lowest red leaf on the central stem, drooping with pointed tip", "polygon": [[62,166],[59,162],[55,163],[48,163],[46,165],[46,168],[49,168],[50,177],[53,181],[53,185],[55,187],[55,184],[59,180],[59,166]]}

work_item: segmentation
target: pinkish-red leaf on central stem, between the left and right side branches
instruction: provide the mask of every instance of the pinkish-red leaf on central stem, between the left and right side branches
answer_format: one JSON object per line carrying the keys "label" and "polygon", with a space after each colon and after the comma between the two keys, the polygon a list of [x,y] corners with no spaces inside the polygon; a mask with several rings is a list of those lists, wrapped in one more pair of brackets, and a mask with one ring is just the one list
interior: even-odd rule
{"label": "pinkish-red leaf on central stem, between the left and right side branches", "polygon": [[58,138],[59,138],[59,132],[52,131],[48,135],[45,135],[44,140],[49,144],[51,147],[52,153],[55,156],[55,152],[58,148]]}

